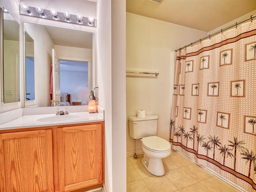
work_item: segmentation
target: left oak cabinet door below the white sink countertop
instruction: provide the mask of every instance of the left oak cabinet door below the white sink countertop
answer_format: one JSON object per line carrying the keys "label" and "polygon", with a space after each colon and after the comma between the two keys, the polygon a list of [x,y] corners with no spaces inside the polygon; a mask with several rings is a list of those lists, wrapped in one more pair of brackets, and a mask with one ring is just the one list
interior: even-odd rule
{"label": "left oak cabinet door below the white sink countertop", "polygon": [[52,191],[52,130],[0,134],[0,192]]}

